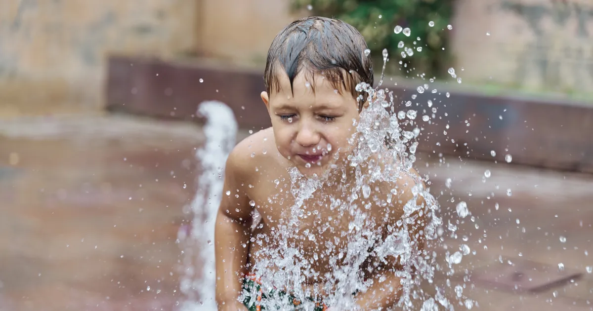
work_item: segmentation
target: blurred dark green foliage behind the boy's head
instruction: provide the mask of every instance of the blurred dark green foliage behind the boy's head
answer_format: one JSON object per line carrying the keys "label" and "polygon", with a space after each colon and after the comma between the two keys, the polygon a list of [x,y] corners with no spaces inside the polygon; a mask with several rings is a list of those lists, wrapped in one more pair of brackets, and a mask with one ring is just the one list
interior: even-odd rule
{"label": "blurred dark green foliage behind the boy's head", "polygon": [[[375,72],[381,70],[382,50],[387,49],[390,59],[386,69],[388,74],[410,78],[422,73],[426,78],[447,75],[447,68],[451,65],[451,53],[447,46],[451,30],[447,25],[451,22],[454,0],[291,1],[295,11],[310,9],[311,15],[336,18],[356,27],[371,49]],[[434,23],[432,27],[429,25],[431,21]],[[396,25],[410,28],[410,36],[403,32],[394,33]],[[403,41],[404,47],[398,47],[400,41]],[[406,51],[413,52],[413,55],[409,56]]]}

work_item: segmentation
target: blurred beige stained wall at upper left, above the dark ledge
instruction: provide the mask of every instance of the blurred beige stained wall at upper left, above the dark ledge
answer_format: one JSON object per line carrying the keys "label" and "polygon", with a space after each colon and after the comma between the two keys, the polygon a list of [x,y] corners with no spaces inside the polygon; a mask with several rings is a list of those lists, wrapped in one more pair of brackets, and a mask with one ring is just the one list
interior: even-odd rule
{"label": "blurred beige stained wall at upper left, above the dark ledge", "polygon": [[101,108],[108,53],[196,50],[194,0],[0,3],[0,117]]}

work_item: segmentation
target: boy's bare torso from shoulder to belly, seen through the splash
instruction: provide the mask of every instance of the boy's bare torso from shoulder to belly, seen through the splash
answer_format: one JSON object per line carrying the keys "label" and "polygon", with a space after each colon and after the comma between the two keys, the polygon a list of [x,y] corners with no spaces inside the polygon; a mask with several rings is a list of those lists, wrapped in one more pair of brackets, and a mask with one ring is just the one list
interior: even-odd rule
{"label": "boy's bare torso from shoulder to belly, seen through the splash", "polygon": [[[248,144],[246,146],[249,149],[248,153],[253,156],[248,158],[251,159],[248,160],[249,163],[244,163],[245,169],[252,172],[247,174],[247,195],[253,201],[251,204],[255,204],[257,212],[261,215],[261,220],[255,225],[251,235],[250,270],[256,262],[269,259],[270,254],[275,254],[276,249],[282,248],[281,242],[287,242],[288,245],[294,245],[301,251],[302,259],[309,261],[310,269],[315,272],[309,273],[315,276],[305,280],[305,283],[325,281],[324,275],[332,272],[331,259],[337,259],[338,264],[344,264],[346,256],[343,252],[347,249],[347,243],[357,238],[352,233],[352,227],[349,227],[355,216],[349,210],[337,207],[336,204],[332,207],[330,200],[330,198],[348,200],[343,194],[343,188],[347,186],[342,182],[334,182],[332,185],[324,184],[322,188],[315,191],[304,201],[300,211],[295,210],[301,214],[293,218],[298,219],[298,225],[293,226],[291,230],[296,232],[298,228],[298,233],[284,235],[286,239],[279,241],[277,238],[279,225],[286,225],[289,222],[291,207],[295,204],[288,172],[291,165],[277,152],[270,129],[253,134],[248,140],[243,143]],[[264,150],[266,150],[265,153]],[[381,186],[371,185],[371,188]],[[388,221],[385,217],[385,206],[375,204],[378,201],[385,201],[386,196],[381,194],[382,192],[384,191],[373,191],[370,197],[359,197],[352,202],[358,206],[357,210],[364,213],[367,229],[375,232],[381,232],[381,228]],[[392,208],[389,219],[399,218],[401,214],[403,210]],[[342,252],[341,255],[340,252]],[[267,266],[267,268],[272,271],[278,269],[273,266]]]}

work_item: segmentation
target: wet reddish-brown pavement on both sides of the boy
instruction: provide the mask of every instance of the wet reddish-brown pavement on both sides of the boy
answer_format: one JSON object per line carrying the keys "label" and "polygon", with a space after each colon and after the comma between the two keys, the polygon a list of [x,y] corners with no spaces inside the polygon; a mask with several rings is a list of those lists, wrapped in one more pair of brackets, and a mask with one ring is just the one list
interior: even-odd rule
{"label": "wet reddish-brown pavement on both sides of the boy", "polygon": [[[202,139],[135,117],[0,122],[0,311],[176,310]],[[460,200],[471,212],[434,250],[476,253],[436,283],[465,284],[473,309],[592,310],[593,176],[435,155],[417,166],[445,224]]]}

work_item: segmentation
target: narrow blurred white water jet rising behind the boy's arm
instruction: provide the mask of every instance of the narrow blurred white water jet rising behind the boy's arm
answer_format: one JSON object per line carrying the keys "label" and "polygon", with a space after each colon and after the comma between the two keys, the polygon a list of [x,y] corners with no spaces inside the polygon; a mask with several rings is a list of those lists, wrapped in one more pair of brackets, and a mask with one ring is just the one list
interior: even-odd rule
{"label": "narrow blurred white water jet rising behind the boy's arm", "polygon": [[183,249],[180,289],[187,297],[180,310],[212,311],[216,310],[214,226],[220,204],[219,194],[223,189],[221,172],[235,146],[237,123],[232,110],[219,101],[202,102],[197,113],[206,118],[203,126],[205,145],[196,152],[201,174],[191,205],[195,226],[189,232],[182,228],[178,233]]}

